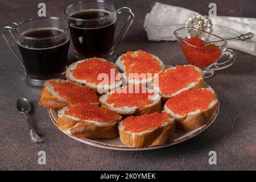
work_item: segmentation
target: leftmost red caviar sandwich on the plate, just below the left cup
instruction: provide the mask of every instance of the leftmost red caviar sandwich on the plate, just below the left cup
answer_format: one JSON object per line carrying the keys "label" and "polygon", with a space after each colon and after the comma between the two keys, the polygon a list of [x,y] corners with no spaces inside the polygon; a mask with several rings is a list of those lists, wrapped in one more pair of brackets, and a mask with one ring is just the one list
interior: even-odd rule
{"label": "leftmost red caviar sandwich on the plate, just below the left cup", "polygon": [[59,110],[67,105],[100,104],[96,92],[65,80],[47,80],[43,85],[40,105]]}

